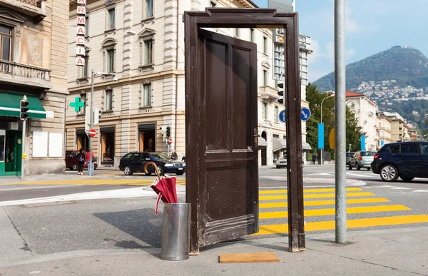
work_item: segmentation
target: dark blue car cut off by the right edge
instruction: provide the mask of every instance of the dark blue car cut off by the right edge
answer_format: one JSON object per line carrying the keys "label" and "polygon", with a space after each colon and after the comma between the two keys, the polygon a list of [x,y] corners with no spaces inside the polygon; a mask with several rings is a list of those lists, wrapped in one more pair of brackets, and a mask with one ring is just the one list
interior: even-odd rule
{"label": "dark blue car cut off by the right edge", "polygon": [[428,178],[428,142],[386,144],[374,155],[372,170],[388,182],[398,177],[406,182],[413,178]]}

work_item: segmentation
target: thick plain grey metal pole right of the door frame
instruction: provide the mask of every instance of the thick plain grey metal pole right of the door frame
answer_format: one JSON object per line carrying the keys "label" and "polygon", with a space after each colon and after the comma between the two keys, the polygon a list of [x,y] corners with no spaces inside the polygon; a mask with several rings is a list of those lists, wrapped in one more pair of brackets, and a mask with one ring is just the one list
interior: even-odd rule
{"label": "thick plain grey metal pole right of the door frame", "polygon": [[345,0],[335,0],[336,242],[346,242]]}

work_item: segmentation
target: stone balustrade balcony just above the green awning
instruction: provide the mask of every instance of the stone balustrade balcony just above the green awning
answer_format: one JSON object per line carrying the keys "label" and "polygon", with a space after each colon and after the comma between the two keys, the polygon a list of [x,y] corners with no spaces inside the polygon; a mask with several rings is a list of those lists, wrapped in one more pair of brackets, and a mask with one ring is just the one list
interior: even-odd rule
{"label": "stone balustrade balcony just above the green awning", "polygon": [[0,83],[51,88],[51,70],[0,60]]}

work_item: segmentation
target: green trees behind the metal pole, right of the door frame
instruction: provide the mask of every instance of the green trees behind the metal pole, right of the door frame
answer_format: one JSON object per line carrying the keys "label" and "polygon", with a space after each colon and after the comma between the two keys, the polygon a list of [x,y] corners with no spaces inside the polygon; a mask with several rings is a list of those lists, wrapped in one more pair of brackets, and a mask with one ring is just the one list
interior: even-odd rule
{"label": "green trees behind the metal pole, right of the door frame", "polygon": [[[311,111],[310,119],[306,123],[306,141],[310,144],[312,152],[317,152],[318,148],[318,123],[321,122],[321,102],[324,98],[330,96],[326,93],[320,93],[317,86],[309,85],[306,86],[306,101],[309,102],[309,108]],[[324,123],[324,141],[325,151],[330,150],[332,156],[335,150],[330,149],[330,132],[335,128],[335,100],[334,97],[327,98],[322,103],[322,123]],[[354,113],[350,109],[346,108],[346,141],[347,150],[348,145],[352,144],[352,150],[358,150],[360,148],[360,136],[361,129],[357,125]]]}

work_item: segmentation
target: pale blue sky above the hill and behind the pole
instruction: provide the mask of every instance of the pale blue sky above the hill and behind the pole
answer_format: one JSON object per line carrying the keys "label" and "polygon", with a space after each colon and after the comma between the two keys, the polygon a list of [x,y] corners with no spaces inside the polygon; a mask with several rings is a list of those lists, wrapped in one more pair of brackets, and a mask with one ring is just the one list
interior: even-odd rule
{"label": "pale blue sky above the hill and behind the pole", "polygon": [[[267,8],[267,0],[252,0]],[[334,1],[295,0],[299,33],[312,38],[309,81],[334,71]],[[345,0],[346,63],[392,46],[410,46],[428,57],[428,0]]]}

